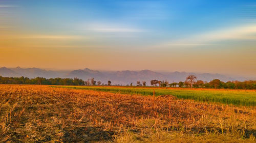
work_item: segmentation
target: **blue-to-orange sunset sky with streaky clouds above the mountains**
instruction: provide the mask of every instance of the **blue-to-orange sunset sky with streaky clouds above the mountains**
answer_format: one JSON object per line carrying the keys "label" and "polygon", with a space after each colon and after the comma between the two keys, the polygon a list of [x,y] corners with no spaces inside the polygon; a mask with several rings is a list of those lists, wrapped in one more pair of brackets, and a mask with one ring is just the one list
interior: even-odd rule
{"label": "blue-to-orange sunset sky with streaky clouds above the mountains", "polygon": [[0,1],[0,67],[256,77],[255,63],[255,1]]}

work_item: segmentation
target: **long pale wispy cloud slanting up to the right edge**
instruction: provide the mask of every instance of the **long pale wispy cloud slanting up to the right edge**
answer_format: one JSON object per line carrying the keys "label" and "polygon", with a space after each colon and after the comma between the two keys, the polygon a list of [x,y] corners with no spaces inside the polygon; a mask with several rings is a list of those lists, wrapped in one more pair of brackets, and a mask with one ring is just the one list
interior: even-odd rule
{"label": "long pale wispy cloud slanting up to the right edge", "polygon": [[223,28],[217,31],[192,35],[188,38],[164,42],[159,46],[198,46],[209,45],[225,40],[256,40],[256,25],[242,25],[238,27]]}

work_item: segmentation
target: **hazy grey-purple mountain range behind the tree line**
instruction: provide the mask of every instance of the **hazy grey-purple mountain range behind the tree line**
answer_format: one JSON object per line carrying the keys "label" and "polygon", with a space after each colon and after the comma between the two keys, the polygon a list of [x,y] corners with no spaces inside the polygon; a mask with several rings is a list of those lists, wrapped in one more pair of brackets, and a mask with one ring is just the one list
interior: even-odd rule
{"label": "hazy grey-purple mountain range behind the tree line", "polygon": [[137,81],[146,81],[147,84],[150,84],[150,80],[168,80],[169,82],[178,82],[185,81],[186,77],[189,74],[194,74],[197,76],[198,80],[210,81],[212,79],[220,79],[221,81],[228,80],[248,80],[243,77],[229,77],[222,74],[211,74],[211,73],[188,73],[188,72],[154,72],[151,70],[141,70],[141,71],[97,71],[91,70],[88,68],[73,70],[73,71],[52,71],[52,70],[44,70],[39,68],[0,68],[0,75],[7,77],[45,77],[45,78],[80,78],[83,80],[87,80],[88,78],[94,77],[96,81],[100,80],[103,83],[107,83],[108,80],[111,80],[113,84],[130,84],[133,82],[133,85],[136,84]]}

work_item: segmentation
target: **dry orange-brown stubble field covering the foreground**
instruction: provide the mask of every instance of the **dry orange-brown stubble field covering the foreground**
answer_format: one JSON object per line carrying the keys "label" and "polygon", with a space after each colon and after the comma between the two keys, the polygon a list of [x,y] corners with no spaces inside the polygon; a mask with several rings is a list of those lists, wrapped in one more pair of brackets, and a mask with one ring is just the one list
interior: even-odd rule
{"label": "dry orange-brown stubble field covering the foreground", "polygon": [[256,108],[0,85],[0,142],[255,142]]}

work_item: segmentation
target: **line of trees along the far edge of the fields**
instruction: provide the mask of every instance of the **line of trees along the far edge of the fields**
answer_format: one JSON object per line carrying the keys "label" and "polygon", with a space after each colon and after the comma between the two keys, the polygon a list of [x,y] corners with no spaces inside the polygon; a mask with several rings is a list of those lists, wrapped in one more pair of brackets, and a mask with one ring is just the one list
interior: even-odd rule
{"label": "line of trees along the far edge of the fields", "polygon": [[[2,77],[0,76],[0,84],[44,84],[44,85],[112,85],[109,80],[104,84],[101,81],[96,81],[94,78],[82,80],[79,78],[44,78],[44,77]],[[245,89],[256,90],[256,80],[246,81],[227,81],[223,82],[219,79],[214,79],[209,82],[197,80],[195,75],[189,75],[186,80],[180,82],[169,83],[167,80],[151,80],[150,84],[153,87],[172,87],[172,88],[205,88],[205,89]],[[119,86],[119,84],[116,84]],[[146,87],[146,81],[137,81],[137,86]],[[126,86],[129,86],[127,84]],[[133,86],[133,83],[130,84]]]}

